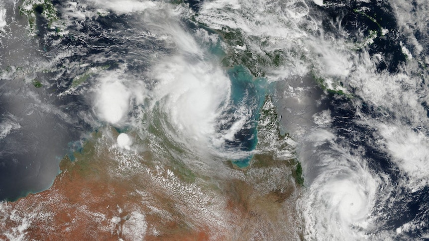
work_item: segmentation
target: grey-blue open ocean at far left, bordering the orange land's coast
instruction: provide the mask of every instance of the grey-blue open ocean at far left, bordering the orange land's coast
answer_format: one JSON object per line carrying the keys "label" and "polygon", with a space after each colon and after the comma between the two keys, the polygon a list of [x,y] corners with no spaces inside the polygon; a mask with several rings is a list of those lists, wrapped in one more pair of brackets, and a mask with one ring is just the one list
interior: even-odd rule
{"label": "grey-blue open ocean at far left, bordering the orange land's coast", "polygon": [[0,123],[12,118],[20,125],[0,140],[0,200],[14,200],[52,184],[59,161],[73,148],[69,143],[90,129],[76,117],[89,108],[77,99],[47,94],[52,91],[49,87],[1,81]]}

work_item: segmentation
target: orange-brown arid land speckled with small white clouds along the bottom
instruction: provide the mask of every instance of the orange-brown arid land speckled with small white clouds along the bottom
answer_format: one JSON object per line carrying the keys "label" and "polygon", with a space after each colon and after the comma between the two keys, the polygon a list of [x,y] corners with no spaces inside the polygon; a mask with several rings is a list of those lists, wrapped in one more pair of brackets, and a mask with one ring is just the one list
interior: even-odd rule
{"label": "orange-brown arid land speckled with small white clouds along the bottom", "polygon": [[[103,133],[110,133],[106,135]],[[111,134],[113,133],[113,134]],[[0,203],[1,240],[290,240],[302,237],[290,161],[256,156],[219,174],[94,134],[52,187]],[[229,162],[230,163],[230,162]]]}

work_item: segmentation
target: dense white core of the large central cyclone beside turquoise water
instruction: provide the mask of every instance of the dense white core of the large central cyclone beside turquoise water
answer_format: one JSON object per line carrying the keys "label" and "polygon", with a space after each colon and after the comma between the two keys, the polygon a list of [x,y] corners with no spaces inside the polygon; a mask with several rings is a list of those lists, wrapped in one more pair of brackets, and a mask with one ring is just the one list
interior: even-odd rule
{"label": "dense white core of the large central cyclone beside turquoise water", "polygon": [[209,142],[216,118],[230,96],[230,80],[219,68],[203,61],[176,56],[153,71],[159,80],[155,100],[167,114],[180,140]]}

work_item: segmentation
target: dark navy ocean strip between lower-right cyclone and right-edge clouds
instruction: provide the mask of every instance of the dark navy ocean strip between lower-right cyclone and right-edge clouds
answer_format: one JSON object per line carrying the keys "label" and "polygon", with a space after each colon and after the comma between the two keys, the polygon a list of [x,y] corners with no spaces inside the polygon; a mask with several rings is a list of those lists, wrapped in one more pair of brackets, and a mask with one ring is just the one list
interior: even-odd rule
{"label": "dark navy ocean strip between lower-right cyclone and right-edge clouds", "polygon": [[[333,127],[335,134],[338,137],[338,143],[347,143],[354,149],[364,150],[362,158],[368,161],[373,175],[386,174],[389,177],[389,182],[392,185],[392,193],[390,195],[394,199],[389,207],[386,203],[377,201],[375,204],[376,210],[385,213],[384,219],[380,220],[380,225],[374,232],[391,231],[410,222],[410,220],[426,220],[429,218],[429,187],[425,187],[417,192],[412,192],[408,188],[399,187],[398,184],[403,178],[398,166],[388,153],[381,150],[376,143],[376,137],[373,133],[374,128],[358,124],[356,109],[359,108],[363,113],[372,116],[373,118],[381,118],[383,114],[378,109],[368,107],[363,103],[360,106],[353,105],[353,101],[347,98],[338,98],[331,95],[325,100],[325,105],[328,106],[333,117]],[[410,232],[408,236],[420,238],[428,232],[427,226],[422,226]]]}

